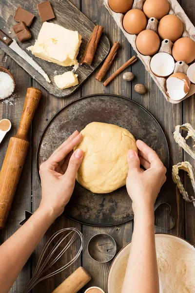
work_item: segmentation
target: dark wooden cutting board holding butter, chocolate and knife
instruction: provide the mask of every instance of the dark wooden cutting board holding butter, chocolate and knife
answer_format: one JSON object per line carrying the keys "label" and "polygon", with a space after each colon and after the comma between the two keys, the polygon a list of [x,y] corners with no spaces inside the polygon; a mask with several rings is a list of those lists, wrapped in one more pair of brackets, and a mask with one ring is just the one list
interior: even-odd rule
{"label": "dark wooden cutting board holding butter, chocolate and knife", "polygon": [[[13,25],[17,22],[14,21],[13,16],[18,6],[28,10],[29,12],[36,15],[33,20],[32,25],[30,26],[30,31],[32,38],[29,41],[20,43],[20,47],[29,54],[48,74],[51,79],[51,84],[45,81],[45,79],[26,61],[24,61],[17,53],[15,53],[11,48],[5,45],[3,42],[0,42],[0,48],[6,52],[11,58],[13,58],[24,70],[26,70],[42,87],[44,87],[50,94],[55,95],[59,98],[68,96],[72,94],[78,87],[93,73],[93,71],[98,67],[98,65],[105,59],[109,52],[110,44],[108,38],[105,34],[102,35],[101,40],[98,44],[98,48],[91,66],[86,64],[79,65],[76,73],[78,74],[79,84],[72,86],[66,89],[59,89],[54,83],[54,76],[57,74],[62,74],[65,71],[70,71],[73,69],[72,66],[64,67],[55,63],[49,63],[47,61],[36,58],[32,53],[26,50],[28,46],[31,46],[35,43],[35,40],[38,37],[39,30],[41,28],[42,22],[40,21],[37,3],[39,0],[30,0],[24,1],[9,1],[4,0],[0,9],[0,29],[3,30],[6,34],[8,31],[11,31],[11,38],[17,40],[16,35],[13,31]],[[81,61],[86,44],[91,36],[91,33],[94,29],[94,23],[90,21],[86,16],[84,16],[71,2],[68,0],[64,1],[50,1],[55,13],[55,19],[50,22],[57,23],[61,26],[64,26],[67,29],[77,30],[78,33],[82,36],[82,42],[80,45],[78,53],[78,62]],[[8,34],[9,35],[9,34]],[[63,38],[63,36],[62,36]]]}

